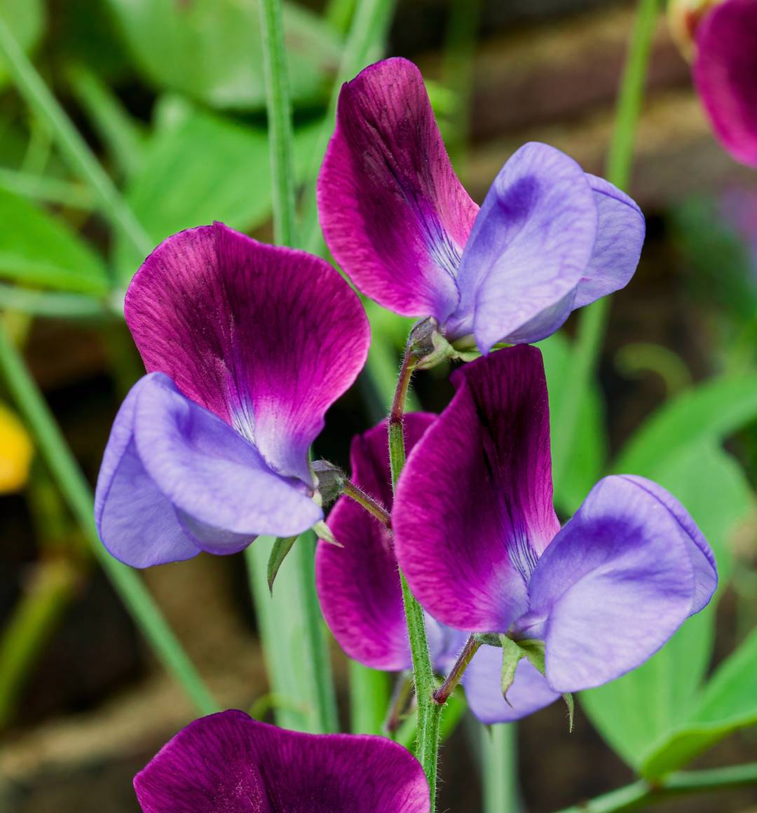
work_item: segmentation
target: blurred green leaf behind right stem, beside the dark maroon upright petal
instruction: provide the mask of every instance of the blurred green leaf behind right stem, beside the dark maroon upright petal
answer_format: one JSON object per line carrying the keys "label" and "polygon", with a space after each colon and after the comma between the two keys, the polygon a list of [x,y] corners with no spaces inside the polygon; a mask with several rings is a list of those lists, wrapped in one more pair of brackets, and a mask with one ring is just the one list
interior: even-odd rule
{"label": "blurred green leaf behind right stem, beside the dark maroon upright petal", "polygon": [[[544,356],[551,423],[555,426],[559,422],[562,393],[570,376],[570,342],[562,333],[555,333],[545,341],[540,341],[538,346]],[[559,483],[555,483],[555,502],[568,514],[575,513],[584,501],[586,494],[602,475],[607,460],[604,405],[596,385],[592,385],[582,399],[576,433],[571,458],[563,467],[565,476]],[[555,447],[554,435],[552,444],[552,459],[558,460],[563,450]]]}

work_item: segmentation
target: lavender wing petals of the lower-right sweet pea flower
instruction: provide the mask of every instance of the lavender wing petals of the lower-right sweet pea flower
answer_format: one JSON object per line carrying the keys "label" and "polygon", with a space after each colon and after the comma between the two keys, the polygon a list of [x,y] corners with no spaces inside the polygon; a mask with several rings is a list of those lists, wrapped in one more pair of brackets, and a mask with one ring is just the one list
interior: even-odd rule
{"label": "lavender wing petals of the lower-right sweet pea flower", "polygon": [[[545,550],[529,585],[556,691],[614,680],[654,654],[695,601],[690,529],[623,476],[600,480]],[[529,636],[530,637],[530,636]]]}

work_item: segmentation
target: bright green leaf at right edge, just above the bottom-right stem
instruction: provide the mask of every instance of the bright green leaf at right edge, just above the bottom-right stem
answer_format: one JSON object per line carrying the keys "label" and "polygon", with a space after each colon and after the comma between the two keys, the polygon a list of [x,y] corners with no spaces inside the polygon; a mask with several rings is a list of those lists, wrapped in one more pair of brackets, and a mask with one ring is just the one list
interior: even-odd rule
{"label": "bright green leaf at right edge, just above the bottom-right stem", "polygon": [[705,686],[690,720],[663,738],[642,764],[657,779],[677,770],[740,728],[757,724],[757,630],[729,656]]}

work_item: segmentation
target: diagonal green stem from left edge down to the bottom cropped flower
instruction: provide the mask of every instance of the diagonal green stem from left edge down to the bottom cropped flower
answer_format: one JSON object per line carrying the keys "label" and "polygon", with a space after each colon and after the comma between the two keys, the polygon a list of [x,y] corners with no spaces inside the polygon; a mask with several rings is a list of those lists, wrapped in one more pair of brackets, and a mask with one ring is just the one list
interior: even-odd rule
{"label": "diagonal green stem from left edge down to the bottom cropped flower", "polygon": [[102,546],[97,529],[94,527],[94,506],[89,484],[2,320],[0,320],[0,374],[25,423],[33,433],[37,448],[50,467],[63,498],[137,627],[141,629],[158,659],[176,678],[198,711],[202,714],[217,711],[218,706],[209,689],[198,675],[140,577],[130,567],[114,559]]}

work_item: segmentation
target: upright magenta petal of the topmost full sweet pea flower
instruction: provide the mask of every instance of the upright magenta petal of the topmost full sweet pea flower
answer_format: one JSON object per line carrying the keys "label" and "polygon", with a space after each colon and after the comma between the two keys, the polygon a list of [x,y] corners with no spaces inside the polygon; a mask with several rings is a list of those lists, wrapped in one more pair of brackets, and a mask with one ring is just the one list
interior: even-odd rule
{"label": "upright magenta petal of the topmost full sweet pea flower", "polygon": [[407,59],[371,65],[342,87],[318,208],[329,249],[363,293],[440,322],[455,309],[455,272],[478,207]]}

